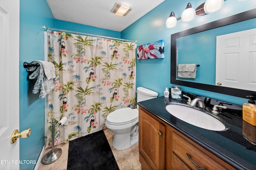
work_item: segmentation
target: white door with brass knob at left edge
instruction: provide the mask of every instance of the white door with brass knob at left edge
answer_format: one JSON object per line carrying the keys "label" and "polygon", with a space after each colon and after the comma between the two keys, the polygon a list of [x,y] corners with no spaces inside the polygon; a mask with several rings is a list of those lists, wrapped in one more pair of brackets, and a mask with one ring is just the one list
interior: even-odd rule
{"label": "white door with brass knob at left edge", "polygon": [[19,27],[20,1],[0,0],[0,170],[19,169]]}

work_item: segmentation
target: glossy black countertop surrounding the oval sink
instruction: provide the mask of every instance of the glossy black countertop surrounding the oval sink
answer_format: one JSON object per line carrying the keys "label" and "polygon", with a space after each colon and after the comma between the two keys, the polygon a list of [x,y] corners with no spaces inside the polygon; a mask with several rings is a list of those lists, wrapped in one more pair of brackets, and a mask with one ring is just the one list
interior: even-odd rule
{"label": "glossy black countertop surrounding the oval sink", "polygon": [[[197,98],[204,101],[206,109],[211,109],[212,106],[218,105],[220,102],[224,103],[223,106],[228,107],[228,109],[223,109],[218,115],[228,123],[229,129],[227,131],[202,129],[190,125],[166,111],[166,104],[169,102],[186,103],[184,99],[175,101],[162,96],[138,102],[138,105],[190,138],[198,145],[209,150],[212,154],[234,166],[234,168],[256,170],[256,145],[250,142],[256,141],[256,127],[242,120],[242,106],[227,104],[227,102],[206,98],[204,96],[197,96]],[[250,141],[248,141],[244,135],[246,135]]]}

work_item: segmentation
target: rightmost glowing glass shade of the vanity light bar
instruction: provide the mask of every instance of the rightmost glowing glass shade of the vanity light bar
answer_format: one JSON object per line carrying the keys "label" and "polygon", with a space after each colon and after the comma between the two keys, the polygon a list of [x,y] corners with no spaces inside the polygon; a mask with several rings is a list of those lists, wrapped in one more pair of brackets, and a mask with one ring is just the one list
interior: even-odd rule
{"label": "rightmost glowing glass shade of the vanity light bar", "polygon": [[223,7],[224,0],[206,0],[204,3],[204,12],[210,14],[216,12]]}

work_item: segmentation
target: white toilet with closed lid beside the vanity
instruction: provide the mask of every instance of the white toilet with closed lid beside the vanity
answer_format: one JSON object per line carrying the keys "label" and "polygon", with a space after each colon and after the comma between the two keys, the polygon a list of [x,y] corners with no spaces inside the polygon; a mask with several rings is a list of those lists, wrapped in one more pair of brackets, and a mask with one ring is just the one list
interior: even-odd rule
{"label": "white toilet with closed lid beside the vanity", "polygon": [[[147,88],[137,88],[137,102],[156,98],[157,92]],[[139,141],[139,110],[130,107],[117,109],[106,118],[106,127],[114,132],[113,147],[124,150]]]}

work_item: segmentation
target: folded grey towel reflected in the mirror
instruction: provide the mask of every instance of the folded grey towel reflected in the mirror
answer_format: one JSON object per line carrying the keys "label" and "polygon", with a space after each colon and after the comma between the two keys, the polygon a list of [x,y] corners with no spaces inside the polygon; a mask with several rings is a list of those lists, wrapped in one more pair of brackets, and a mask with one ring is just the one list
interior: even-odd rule
{"label": "folded grey towel reflected in the mirror", "polygon": [[196,64],[178,64],[178,77],[196,78]]}

